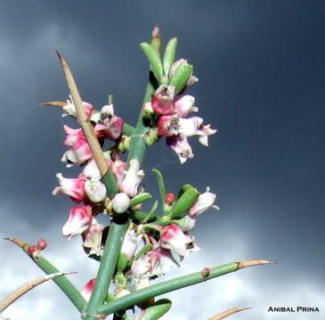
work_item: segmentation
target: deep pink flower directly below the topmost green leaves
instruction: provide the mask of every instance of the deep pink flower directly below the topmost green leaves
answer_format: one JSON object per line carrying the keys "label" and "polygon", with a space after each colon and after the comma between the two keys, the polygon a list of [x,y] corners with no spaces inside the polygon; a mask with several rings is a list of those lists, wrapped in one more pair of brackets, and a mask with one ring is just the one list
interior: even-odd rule
{"label": "deep pink flower directly below the topmost green leaves", "polygon": [[160,85],[151,100],[151,108],[158,115],[171,115],[175,111],[175,86]]}

